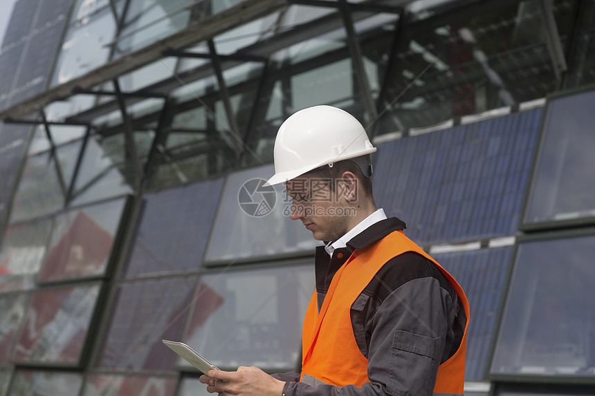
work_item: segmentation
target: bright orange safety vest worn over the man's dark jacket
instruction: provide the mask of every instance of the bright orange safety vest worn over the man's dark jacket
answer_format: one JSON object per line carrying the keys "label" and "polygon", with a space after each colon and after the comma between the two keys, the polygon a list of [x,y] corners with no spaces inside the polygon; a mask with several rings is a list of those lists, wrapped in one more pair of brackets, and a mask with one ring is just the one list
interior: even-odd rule
{"label": "bright orange safety vest worn over the man's dark jacket", "polygon": [[349,310],[378,270],[392,258],[405,252],[417,252],[429,258],[455,288],[467,315],[461,345],[450,359],[438,368],[434,395],[462,395],[465,376],[465,352],[469,303],[459,283],[433,258],[405,236],[403,231],[392,232],[367,247],[356,249],[336,272],[318,312],[314,292],[302,331],[302,379],[315,377],[326,384],[362,386],[369,382],[368,359],[360,352],[351,326]]}

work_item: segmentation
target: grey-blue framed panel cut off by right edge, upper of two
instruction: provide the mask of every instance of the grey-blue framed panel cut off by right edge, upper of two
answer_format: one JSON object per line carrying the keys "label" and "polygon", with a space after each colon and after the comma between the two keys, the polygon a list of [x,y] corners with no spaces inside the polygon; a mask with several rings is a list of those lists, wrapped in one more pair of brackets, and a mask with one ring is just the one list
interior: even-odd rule
{"label": "grey-blue framed panel cut off by right edge, upper of two", "polygon": [[525,223],[595,216],[595,91],[550,100]]}

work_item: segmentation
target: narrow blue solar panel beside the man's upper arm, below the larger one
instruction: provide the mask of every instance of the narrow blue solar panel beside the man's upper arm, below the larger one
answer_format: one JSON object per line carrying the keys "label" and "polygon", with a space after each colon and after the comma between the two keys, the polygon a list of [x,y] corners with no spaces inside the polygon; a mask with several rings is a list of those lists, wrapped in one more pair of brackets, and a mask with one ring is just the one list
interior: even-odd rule
{"label": "narrow blue solar panel beside the man's upper arm, below the larger one", "polygon": [[457,279],[469,301],[467,381],[484,379],[512,251],[510,246],[432,255]]}

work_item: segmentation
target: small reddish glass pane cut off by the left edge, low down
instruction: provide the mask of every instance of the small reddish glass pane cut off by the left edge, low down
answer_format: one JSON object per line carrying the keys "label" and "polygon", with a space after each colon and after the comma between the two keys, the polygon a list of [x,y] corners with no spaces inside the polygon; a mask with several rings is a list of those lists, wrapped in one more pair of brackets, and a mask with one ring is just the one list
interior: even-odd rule
{"label": "small reddish glass pane cut off by the left edge, low down", "polygon": [[25,293],[0,294],[0,366],[10,361],[10,352],[17,339],[17,331],[25,317],[26,303]]}

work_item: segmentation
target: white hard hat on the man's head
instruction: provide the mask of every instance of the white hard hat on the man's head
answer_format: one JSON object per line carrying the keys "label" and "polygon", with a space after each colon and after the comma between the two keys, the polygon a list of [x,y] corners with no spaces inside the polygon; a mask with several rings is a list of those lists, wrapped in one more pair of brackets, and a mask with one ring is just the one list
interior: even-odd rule
{"label": "white hard hat on the man's head", "polygon": [[309,107],[280,126],[275,139],[275,175],[267,183],[276,185],[323,165],[374,151],[376,147],[353,115],[333,106]]}

